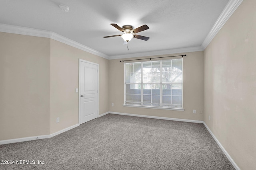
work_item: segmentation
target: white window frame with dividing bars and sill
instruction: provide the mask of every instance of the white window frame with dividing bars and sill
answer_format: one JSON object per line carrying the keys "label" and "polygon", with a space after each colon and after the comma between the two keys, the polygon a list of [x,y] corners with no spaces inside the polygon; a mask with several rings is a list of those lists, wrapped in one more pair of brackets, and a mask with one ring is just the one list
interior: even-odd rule
{"label": "white window frame with dividing bars and sill", "polygon": [[[128,63],[124,63],[124,104],[123,106],[125,107],[139,107],[139,108],[150,108],[150,109],[164,109],[164,110],[175,110],[175,111],[184,111],[184,107],[183,107],[183,59],[181,58],[181,66],[182,66],[182,80],[180,83],[175,83],[175,82],[162,82],[162,62],[163,61],[172,61],[172,60],[176,60],[176,59],[169,59],[169,60],[158,60],[158,61],[141,61],[141,62],[128,62],[128,63],[140,63],[141,66],[141,82],[140,83],[126,83],[126,66],[125,64],[128,64]],[[160,82],[143,82],[144,80],[144,77],[142,76],[143,75],[143,63],[146,63],[146,62],[150,62],[151,63],[151,66],[152,66],[152,62],[160,62]],[[133,72],[134,73],[134,72]],[[141,93],[140,93],[140,96],[141,96],[141,100],[140,100],[140,105],[136,105],[136,104],[126,104],[126,85],[127,84],[140,84],[141,86],[143,86],[143,84],[159,84],[160,85],[160,106],[148,106],[148,105],[143,105],[142,101],[143,101],[143,88],[141,88]],[[182,97],[182,100],[181,100],[181,105],[182,107],[164,107],[162,106],[162,98],[163,98],[163,90],[162,90],[162,86],[164,84],[181,84],[181,88],[182,88],[182,94],[181,94],[181,97]],[[151,89],[152,90],[152,89]],[[134,94],[132,94],[134,95]],[[152,96],[152,93],[150,94]],[[164,95],[165,96],[165,95]],[[172,95],[171,95],[172,96]],[[144,102],[145,103],[145,102]],[[152,103],[152,100],[151,100],[151,103]]]}

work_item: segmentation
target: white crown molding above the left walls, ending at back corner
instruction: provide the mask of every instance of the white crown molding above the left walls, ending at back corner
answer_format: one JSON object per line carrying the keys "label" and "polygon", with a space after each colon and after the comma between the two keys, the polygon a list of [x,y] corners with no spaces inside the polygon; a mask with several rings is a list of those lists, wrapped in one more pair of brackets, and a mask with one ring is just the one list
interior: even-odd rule
{"label": "white crown molding above the left walls, ending at back corner", "polygon": [[34,29],[34,28],[27,28],[27,27],[20,27],[20,26],[15,26],[15,25],[7,25],[7,24],[2,24],[0,23],[0,32],[5,32],[5,33],[14,33],[14,34],[20,34],[20,35],[30,35],[30,36],[35,36],[35,37],[44,37],[44,38],[50,38],[54,39],[56,41],[59,41],[61,43],[70,45],[72,47],[81,49],[83,51],[86,51],[88,53],[97,55],[99,57],[109,59],[108,55],[101,53],[99,51],[96,51],[90,47],[87,47],[85,45],[82,45],[76,41],[73,41],[71,39],[68,39],[62,35],[59,35],[57,33],[54,33],[52,31],[46,31],[42,29]]}

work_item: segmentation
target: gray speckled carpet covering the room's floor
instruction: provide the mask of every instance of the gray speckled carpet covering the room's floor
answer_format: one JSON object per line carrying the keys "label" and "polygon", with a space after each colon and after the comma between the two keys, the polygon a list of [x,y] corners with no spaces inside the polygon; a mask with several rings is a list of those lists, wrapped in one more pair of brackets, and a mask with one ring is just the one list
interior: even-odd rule
{"label": "gray speckled carpet covering the room's floor", "polygon": [[203,124],[114,114],[50,139],[0,145],[0,160],[31,160],[1,170],[234,170]]}

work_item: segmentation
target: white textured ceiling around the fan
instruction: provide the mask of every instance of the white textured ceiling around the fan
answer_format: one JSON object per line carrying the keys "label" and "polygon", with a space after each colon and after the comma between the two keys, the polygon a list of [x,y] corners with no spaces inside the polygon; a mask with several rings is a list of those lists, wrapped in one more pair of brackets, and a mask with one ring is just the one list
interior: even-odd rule
{"label": "white textured ceiling around the fan", "polygon": [[[108,56],[201,46],[228,0],[0,0],[0,23],[53,31]],[[59,5],[67,5],[65,13]],[[134,28],[129,51],[110,23]]]}

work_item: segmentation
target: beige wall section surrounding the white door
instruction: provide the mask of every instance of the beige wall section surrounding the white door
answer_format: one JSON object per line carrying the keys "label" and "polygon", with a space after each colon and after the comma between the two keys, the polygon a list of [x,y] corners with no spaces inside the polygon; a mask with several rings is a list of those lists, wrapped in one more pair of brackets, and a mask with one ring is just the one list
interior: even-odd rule
{"label": "beige wall section surrounding the white door", "polygon": [[[50,133],[79,123],[79,59],[99,64],[99,114],[108,112],[108,60],[80,49],[51,42],[50,54]],[[56,117],[60,122],[56,123]]]}

